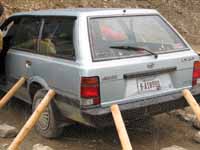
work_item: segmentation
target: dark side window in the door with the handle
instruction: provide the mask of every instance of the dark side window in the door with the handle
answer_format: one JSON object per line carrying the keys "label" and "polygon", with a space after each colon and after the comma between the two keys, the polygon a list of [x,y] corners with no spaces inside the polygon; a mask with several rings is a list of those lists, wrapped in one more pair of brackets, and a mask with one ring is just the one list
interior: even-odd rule
{"label": "dark side window in the door with the handle", "polygon": [[13,37],[12,48],[36,52],[41,20],[37,18],[23,18]]}

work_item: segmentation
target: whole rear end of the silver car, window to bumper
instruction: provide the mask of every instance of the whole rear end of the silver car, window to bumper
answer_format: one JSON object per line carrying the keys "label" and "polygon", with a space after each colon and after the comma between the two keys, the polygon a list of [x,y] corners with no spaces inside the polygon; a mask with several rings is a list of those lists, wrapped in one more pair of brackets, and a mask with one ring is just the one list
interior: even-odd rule
{"label": "whole rear end of the silver car, window to bumper", "polygon": [[88,29],[92,62],[83,67],[80,97],[95,126],[111,123],[112,104],[137,119],[184,107],[185,88],[200,93],[198,55],[158,13],[93,16]]}

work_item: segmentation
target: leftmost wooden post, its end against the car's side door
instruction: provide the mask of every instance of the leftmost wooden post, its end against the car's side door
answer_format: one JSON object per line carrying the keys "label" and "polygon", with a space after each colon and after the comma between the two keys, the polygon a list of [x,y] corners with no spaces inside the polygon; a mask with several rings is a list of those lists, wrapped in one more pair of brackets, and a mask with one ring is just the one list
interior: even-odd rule
{"label": "leftmost wooden post, its end against the car's side door", "polygon": [[6,93],[6,95],[0,100],[0,109],[2,109],[7,102],[15,95],[17,90],[25,83],[26,79],[21,77],[17,83]]}

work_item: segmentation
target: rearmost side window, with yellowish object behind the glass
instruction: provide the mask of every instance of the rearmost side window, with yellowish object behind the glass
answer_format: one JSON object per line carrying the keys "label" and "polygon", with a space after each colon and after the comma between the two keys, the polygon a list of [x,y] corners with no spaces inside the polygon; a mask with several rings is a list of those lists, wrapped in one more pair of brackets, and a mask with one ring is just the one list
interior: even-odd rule
{"label": "rearmost side window, with yellowish object behind the glass", "polygon": [[48,56],[75,58],[73,45],[74,18],[45,18],[39,41],[39,53]]}

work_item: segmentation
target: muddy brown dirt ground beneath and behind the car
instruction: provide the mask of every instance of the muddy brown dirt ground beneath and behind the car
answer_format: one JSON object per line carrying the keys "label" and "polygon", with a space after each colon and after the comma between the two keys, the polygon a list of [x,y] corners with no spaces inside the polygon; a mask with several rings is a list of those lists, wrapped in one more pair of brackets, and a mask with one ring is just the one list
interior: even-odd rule
{"label": "muddy brown dirt ground beneath and behind the car", "polygon": [[[7,123],[20,129],[30,115],[30,106],[12,101],[0,111],[0,123]],[[200,145],[192,141],[196,129],[168,113],[154,116],[146,121],[127,124],[128,134],[134,150],[160,150],[162,147],[179,145],[188,150],[199,150]],[[0,144],[9,144],[13,139],[0,139]],[[65,129],[63,137],[48,140],[35,130],[24,141],[20,150],[31,150],[37,143],[48,145],[55,150],[120,150],[115,127],[94,129],[73,125]]]}

